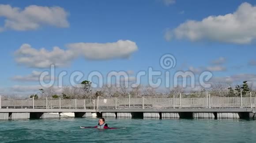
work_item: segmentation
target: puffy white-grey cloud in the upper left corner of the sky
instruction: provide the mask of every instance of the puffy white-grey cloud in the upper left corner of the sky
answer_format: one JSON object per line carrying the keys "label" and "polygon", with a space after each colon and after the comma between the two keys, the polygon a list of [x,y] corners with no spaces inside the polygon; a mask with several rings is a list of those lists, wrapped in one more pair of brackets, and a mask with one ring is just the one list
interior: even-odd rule
{"label": "puffy white-grey cloud in the upper left corner of the sky", "polygon": [[[0,17],[4,17],[4,27],[18,31],[35,30],[42,25],[69,27],[68,12],[62,7],[41,7],[30,5],[23,10],[19,7],[0,4]],[[0,29],[1,31],[1,29]]]}

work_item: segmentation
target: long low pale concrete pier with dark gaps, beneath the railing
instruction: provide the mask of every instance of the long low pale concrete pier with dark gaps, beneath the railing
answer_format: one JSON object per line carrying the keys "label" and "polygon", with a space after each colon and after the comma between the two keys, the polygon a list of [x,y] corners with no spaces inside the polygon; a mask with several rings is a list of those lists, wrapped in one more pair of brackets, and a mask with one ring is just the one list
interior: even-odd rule
{"label": "long low pale concrete pier with dark gaps, beneath the railing", "polygon": [[256,109],[0,109],[0,120],[62,117],[248,119],[256,118]]}

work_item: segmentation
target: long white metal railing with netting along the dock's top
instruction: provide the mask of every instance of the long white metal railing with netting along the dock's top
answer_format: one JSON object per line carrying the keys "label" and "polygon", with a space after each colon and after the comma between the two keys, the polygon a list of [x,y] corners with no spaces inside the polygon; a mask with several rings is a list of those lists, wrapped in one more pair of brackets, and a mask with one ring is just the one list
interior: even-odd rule
{"label": "long white metal railing with netting along the dock's top", "polygon": [[256,108],[256,92],[178,93],[154,97],[98,97],[97,99],[30,98],[0,96],[0,109],[173,109]]}

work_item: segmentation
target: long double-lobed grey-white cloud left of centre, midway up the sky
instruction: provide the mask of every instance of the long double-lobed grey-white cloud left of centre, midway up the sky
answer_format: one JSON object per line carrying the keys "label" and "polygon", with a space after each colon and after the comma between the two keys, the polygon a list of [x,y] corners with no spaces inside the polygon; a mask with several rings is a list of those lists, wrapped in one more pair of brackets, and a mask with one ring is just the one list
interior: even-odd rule
{"label": "long double-lobed grey-white cloud left of centre, midway up the sky", "polygon": [[41,48],[37,50],[29,44],[23,44],[15,51],[15,60],[19,64],[33,68],[65,67],[72,60],[84,57],[89,60],[107,60],[114,58],[128,58],[138,47],[129,40],[118,40],[114,43],[70,43],[68,49],[53,47],[52,51]]}

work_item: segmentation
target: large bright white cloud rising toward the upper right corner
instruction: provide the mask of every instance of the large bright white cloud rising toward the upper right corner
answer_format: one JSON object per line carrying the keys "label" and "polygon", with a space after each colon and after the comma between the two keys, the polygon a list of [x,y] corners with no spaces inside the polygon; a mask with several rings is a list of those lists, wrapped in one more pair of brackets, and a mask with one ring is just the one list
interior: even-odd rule
{"label": "large bright white cloud rising toward the upper right corner", "polygon": [[165,37],[171,40],[208,39],[218,42],[248,44],[256,39],[256,7],[241,4],[232,14],[209,16],[202,21],[188,20],[176,29],[167,30]]}

